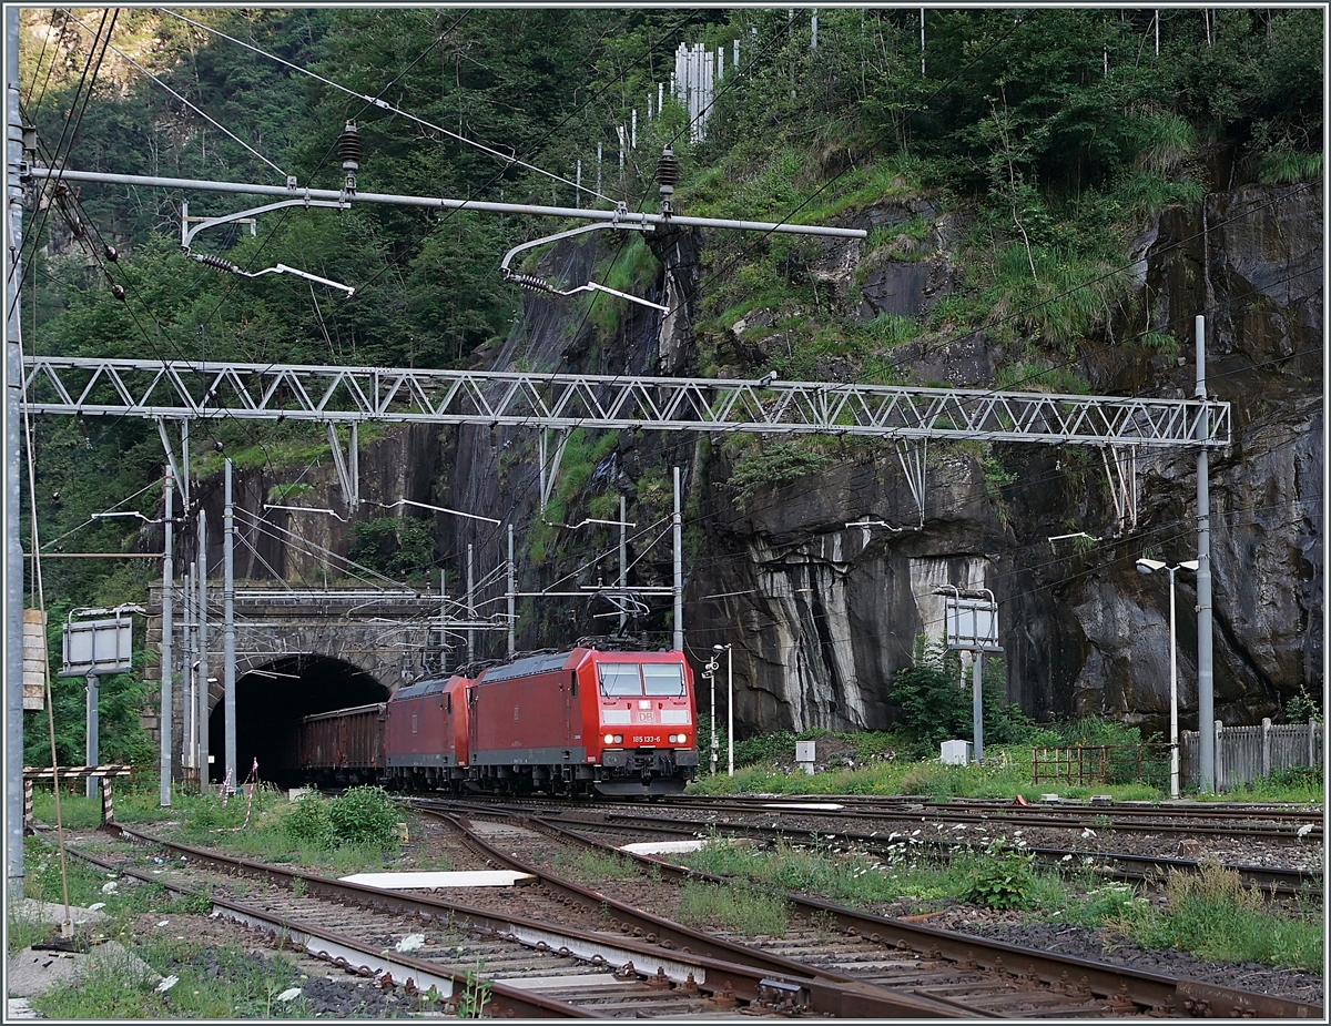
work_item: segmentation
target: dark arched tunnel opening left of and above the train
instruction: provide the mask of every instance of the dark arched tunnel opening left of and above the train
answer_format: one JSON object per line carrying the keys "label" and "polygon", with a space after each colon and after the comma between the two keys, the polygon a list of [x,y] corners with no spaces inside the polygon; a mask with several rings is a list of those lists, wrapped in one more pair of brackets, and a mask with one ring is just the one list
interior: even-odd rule
{"label": "dark arched tunnel opening left of and above the train", "polygon": [[[301,717],[317,712],[387,701],[389,689],[362,669],[337,659],[286,656],[250,669],[236,680],[237,785],[258,760],[258,778],[295,788],[301,777],[297,737]],[[208,717],[209,780],[226,774],[224,708]]]}

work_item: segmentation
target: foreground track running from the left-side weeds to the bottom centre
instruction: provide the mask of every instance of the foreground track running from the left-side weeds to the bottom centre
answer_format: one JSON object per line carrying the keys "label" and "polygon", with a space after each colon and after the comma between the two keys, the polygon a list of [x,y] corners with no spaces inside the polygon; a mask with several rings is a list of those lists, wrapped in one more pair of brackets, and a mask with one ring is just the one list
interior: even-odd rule
{"label": "foreground track running from the left-side weeds to the bottom centre", "polygon": [[[695,954],[634,936],[530,920],[427,894],[382,890],[281,866],[178,845],[114,828],[164,853],[162,868],[79,853],[122,876],[210,897],[218,916],[382,986],[409,994],[434,987],[446,1011],[484,1005],[491,1015],[523,1018],[728,1018],[820,1014],[836,1018],[961,1018],[946,1002],[893,993],[856,981],[809,977],[771,957],[735,961]],[[133,854],[133,853],[129,853]],[[238,881],[264,884],[260,894]],[[520,888],[519,892],[531,890]],[[244,892],[244,893],[241,893]],[[530,904],[530,902],[528,902]],[[547,898],[547,910],[559,910]],[[580,917],[586,920],[586,917]],[[634,933],[644,934],[640,926]],[[418,936],[418,954],[393,947]],[[687,945],[684,945],[687,947]],[[673,949],[673,950],[672,950]],[[483,986],[478,982],[483,981]]]}

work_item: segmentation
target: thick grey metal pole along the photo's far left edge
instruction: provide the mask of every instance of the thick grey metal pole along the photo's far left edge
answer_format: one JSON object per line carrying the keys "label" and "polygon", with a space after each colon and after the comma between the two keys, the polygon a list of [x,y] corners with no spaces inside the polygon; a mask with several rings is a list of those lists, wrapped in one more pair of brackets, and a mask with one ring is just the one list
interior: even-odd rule
{"label": "thick grey metal pole along the photo's far left edge", "polygon": [[23,335],[19,325],[19,289],[23,283],[19,253],[23,248],[23,118],[19,114],[19,8],[5,7],[5,302],[9,307],[4,362],[5,435],[5,873],[8,894],[23,897],[23,544],[19,538],[19,432],[23,383]]}

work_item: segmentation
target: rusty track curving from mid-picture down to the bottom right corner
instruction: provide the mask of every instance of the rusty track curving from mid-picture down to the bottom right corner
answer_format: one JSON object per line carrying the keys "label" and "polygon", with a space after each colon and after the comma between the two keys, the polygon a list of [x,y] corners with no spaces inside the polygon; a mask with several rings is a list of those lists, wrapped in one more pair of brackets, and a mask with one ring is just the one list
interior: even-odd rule
{"label": "rusty track curving from mid-picture down to the bottom right corner", "polygon": [[[443,812],[438,814],[450,816]],[[453,820],[467,829],[467,822],[457,813],[453,813]],[[502,832],[502,845],[498,840],[484,840],[476,829],[488,824],[486,830],[492,833],[496,822],[507,825]],[[660,886],[662,881],[679,884],[695,880],[733,886],[733,881],[660,860],[627,856],[610,845],[580,837],[540,818],[491,813],[488,820],[473,821],[470,830],[478,850],[488,858],[538,876],[542,886],[566,894],[570,901],[582,902],[588,912],[603,910],[608,905],[615,910],[614,914],[619,914],[624,906],[608,900],[602,892],[555,880],[540,865],[550,860],[551,841],[634,860],[642,868],[646,882],[622,882],[606,885],[606,889],[618,886],[620,892],[632,893],[639,905],[643,904],[644,893],[652,894],[664,906],[658,913],[671,908],[671,898]],[[781,937],[748,938],[743,942],[744,946],[775,958],[792,959],[811,974],[905,990],[962,1009],[970,1015],[1318,1018],[1322,1014],[1320,1006],[905,924],[797,894],[787,893],[783,897],[792,910],[791,929]],[[675,934],[667,934],[668,930],[660,930],[658,940],[679,942]],[[731,950],[740,940],[709,930],[703,934],[701,943],[708,945],[701,950],[716,953]]]}

